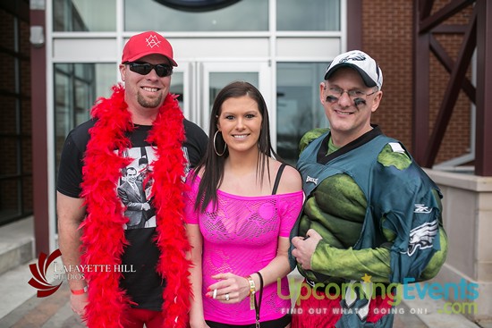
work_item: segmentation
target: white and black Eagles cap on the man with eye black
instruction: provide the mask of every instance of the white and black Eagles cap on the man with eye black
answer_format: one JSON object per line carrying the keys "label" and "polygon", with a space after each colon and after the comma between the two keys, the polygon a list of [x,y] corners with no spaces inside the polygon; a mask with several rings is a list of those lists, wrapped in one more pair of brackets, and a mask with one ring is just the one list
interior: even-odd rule
{"label": "white and black Eagles cap on the man with eye black", "polygon": [[340,67],[351,67],[358,71],[365,85],[369,88],[377,87],[380,90],[383,86],[383,72],[377,66],[376,61],[361,50],[352,50],[337,55],[327,68],[325,80],[328,80]]}

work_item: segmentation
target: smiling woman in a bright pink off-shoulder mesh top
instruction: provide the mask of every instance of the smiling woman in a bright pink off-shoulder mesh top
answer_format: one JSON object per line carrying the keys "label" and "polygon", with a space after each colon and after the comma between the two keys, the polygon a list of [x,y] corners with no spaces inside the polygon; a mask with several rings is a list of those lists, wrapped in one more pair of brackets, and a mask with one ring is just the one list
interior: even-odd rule
{"label": "smiling woman in a bright pink off-shoulder mesh top", "polygon": [[191,328],[288,327],[287,252],[302,206],[301,176],[277,159],[267,105],[250,83],[218,93],[209,136],[187,181]]}

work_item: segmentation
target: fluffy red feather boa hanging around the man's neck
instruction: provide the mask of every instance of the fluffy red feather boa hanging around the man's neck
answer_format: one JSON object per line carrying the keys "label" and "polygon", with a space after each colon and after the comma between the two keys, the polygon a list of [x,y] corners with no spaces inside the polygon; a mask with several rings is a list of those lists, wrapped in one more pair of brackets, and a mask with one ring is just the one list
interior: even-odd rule
{"label": "fluffy red feather boa hanging around the man's neck", "polygon": [[[84,157],[82,197],[88,215],[81,223],[82,265],[121,265],[123,247],[128,244],[123,224],[123,204],[117,197],[116,183],[121,170],[131,159],[123,150],[131,147],[126,137],[133,130],[131,114],[124,102],[122,85],[113,87],[110,98],[101,98],[92,109],[97,119],[89,130],[90,139]],[[163,327],[183,328],[188,324],[191,284],[188,279],[191,262],[186,258],[190,243],[183,225],[184,202],[182,181],[186,160],[182,152],[184,127],[182,111],[176,99],[167,95],[156,121],[148,134],[148,143],[157,146],[152,186],[157,216],[157,247],[160,257],[157,273],[166,282],[163,291]],[[122,327],[125,309],[131,299],[119,288],[122,273],[87,272],[89,303],[85,319],[92,327]]]}

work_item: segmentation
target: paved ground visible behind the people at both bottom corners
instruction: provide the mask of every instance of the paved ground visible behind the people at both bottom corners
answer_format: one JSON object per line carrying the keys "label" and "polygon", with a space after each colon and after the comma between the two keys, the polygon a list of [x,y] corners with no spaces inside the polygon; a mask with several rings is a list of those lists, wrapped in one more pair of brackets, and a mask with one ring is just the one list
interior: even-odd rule
{"label": "paved ground visible behind the people at both bottom corners", "polygon": [[[70,290],[64,282],[47,298],[38,298],[30,280],[29,264],[0,275],[1,328],[82,328],[70,308]],[[394,328],[479,328],[463,315],[439,313],[444,301],[405,300],[397,307]],[[492,326],[488,326],[490,328]]]}

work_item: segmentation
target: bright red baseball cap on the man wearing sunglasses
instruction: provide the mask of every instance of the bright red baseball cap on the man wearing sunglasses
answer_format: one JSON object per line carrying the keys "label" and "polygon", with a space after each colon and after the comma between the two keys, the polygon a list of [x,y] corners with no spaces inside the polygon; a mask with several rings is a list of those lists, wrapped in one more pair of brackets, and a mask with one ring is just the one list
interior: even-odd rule
{"label": "bright red baseball cap on the man wearing sunglasses", "polygon": [[149,30],[131,37],[123,47],[122,63],[134,62],[146,55],[165,55],[173,66],[173,46],[159,33]]}

